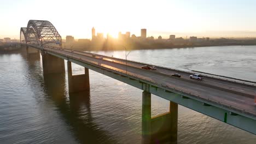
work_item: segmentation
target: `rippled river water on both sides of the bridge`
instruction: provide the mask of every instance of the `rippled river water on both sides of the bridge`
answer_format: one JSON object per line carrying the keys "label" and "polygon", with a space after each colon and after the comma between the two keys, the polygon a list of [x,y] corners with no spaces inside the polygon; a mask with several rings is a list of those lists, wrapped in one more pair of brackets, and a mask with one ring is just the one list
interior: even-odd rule
{"label": "rippled river water on both sides of the bridge", "polygon": [[[125,51],[97,53],[125,58]],[[127,59],[256,81],[256,46],[135,50]],[[0,67],[0,143],[141,143],[140,89],[90,70],[90,92],[69,95],[67,73],[44,76],[40,57],[22,53],[0,54]],[[83,74],[79,65],[72,67]],[[178,108],[178,143],[256,141],[251,133]],[[168,101],[153,95],[152,115],[167,111]]]}

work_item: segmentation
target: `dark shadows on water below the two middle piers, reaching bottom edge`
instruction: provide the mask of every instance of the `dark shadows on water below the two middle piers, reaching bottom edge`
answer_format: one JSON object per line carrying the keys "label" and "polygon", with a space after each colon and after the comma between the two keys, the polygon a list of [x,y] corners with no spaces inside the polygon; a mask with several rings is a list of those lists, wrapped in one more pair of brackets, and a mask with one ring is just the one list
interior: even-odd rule
{"label": "dark shadows on water below the two middle piers, reaching bottom edge", "polygon": [[90,91],[69,94],[65,91],[65,74],[44,75],[45,93],[50,97],[64,121],[71,126],[80,143],[116,143],[101,130],[91,115]]}

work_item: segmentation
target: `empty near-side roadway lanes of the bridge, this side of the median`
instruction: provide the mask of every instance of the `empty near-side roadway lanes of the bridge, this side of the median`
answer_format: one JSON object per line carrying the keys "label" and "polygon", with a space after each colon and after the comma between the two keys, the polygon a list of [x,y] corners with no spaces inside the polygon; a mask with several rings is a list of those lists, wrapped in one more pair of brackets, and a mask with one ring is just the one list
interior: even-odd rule
{"label": "empty near-side roadway lanes of the bridge, this side of the median", "polygon": [[[47,49],[47,48],[46,48]],[[91,62],[101,67],[112,68],[115,70],[126,72],[126,65],[124,63],[113,63],[112,61],[106,61],[104,58],[99,59],[98,57],[92,57],[88,55],[83,55],[83,53],[74,53],[68,50],[53,50],[63,56],[74,57],[80,59],[80,61]],[[200,95],[203,98],[210,98],[216,101],[220,101],[226,105],[231,105],[233,107],[238,107],[239,109],[244,109],[250,112],[253,116],[256,116],[256,106],[253,103],[253,98],[244,97],[243,95],[234,94],[226,91],[221,91],[219,89],[198,85],[193,83],[193,81],[184,81],[182,79],[176,79],[171,76],[166,76],[161,73],[154,73],[152,70],[144,70],[141,68],[136,68],[127,65],[128,74],[136,75],[141,79],[154,81],[159,85],[167,85],[169,87],[183,89],[184,92]]]}

